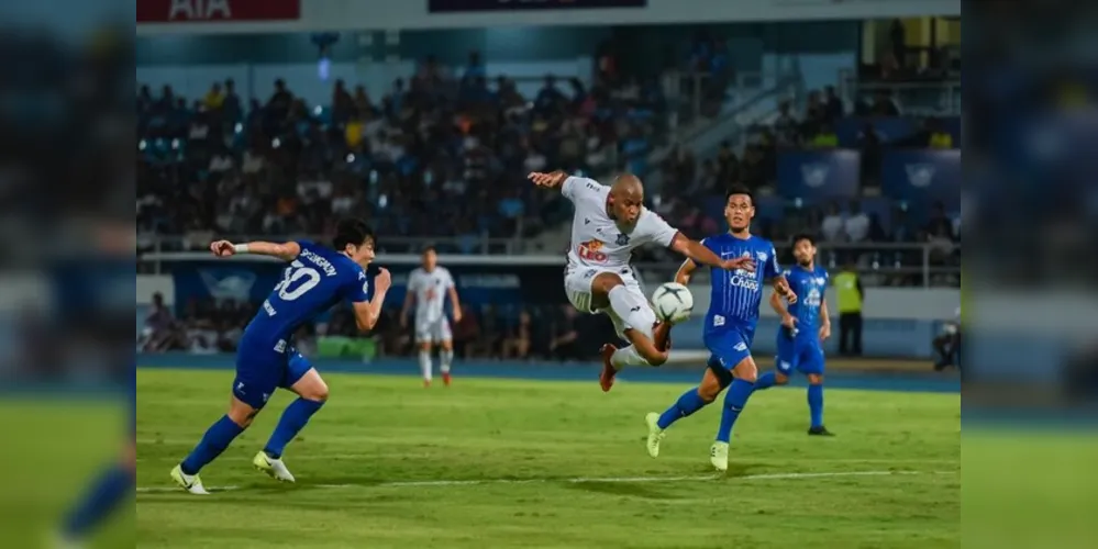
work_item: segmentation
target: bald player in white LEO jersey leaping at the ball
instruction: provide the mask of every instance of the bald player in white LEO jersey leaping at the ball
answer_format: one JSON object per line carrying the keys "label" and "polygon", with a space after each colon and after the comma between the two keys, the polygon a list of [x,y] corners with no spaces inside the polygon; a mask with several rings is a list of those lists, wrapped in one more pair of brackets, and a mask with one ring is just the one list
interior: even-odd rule
{"label": "bald player in white LEO jersey leaping at the ball", "polygon": [[721,269],[754,269],[751,258],[721,259],[644,208],[644,188],[633,175],[622,175],[611,187],[564,171],[531,172],[539,187],[559,189],[576,206],[564,288],[581,313],[605,313],[630,346],[602,347],[602,391],[613,386],[626,365],[661,366],[667,361],[670,325],[658,324],[629,265],[633,249],[647,243],[666,246],[690,259]]}

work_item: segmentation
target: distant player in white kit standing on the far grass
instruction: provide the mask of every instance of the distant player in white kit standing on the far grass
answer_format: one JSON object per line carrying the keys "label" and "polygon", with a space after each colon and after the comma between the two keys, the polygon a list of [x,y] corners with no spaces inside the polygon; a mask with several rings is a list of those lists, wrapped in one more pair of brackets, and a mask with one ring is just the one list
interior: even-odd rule
{"label": "distant player in white kit standing on the far grass", "polygon": [[408,276],[408,295],[400,312],[400,325],[408,327],[408,311],[415,304],[415,345],[419,347],[423,386],[431,386],[431,348],[439,347],[439,370],[442,382],[450,386],[450,366],[454,361],[454,338],[446,320],[444,298],[450,299],[454,322],[462,321],[462,304],[454,288],[454,277],[439,266],[434,248],[423,250],[423,266]]}

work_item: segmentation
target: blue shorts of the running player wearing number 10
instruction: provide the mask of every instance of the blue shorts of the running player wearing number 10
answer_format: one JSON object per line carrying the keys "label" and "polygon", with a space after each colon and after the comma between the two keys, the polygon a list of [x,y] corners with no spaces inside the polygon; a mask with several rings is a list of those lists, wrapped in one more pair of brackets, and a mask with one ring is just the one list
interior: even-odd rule
{"label": "blue shorts of the running player wearing number 10", "polygon": [[259,410],[267,404],[275,389],[293,386],[311,369],[309,359],[292,346],[287,345],[282,352],[277,352],[269,346],[256,349],[241,341],[236,351],[233,396]]}

